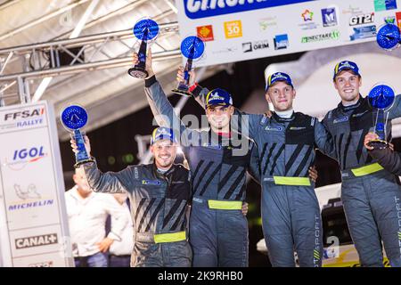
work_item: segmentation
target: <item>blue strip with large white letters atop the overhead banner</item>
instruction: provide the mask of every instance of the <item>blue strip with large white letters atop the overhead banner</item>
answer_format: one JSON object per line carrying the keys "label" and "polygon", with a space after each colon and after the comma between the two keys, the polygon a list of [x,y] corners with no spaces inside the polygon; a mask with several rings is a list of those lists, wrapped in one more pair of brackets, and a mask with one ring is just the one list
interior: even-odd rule
{"label": "blue strip with large white letters atop the overhead banner", "polygon": [[185,14],[190,19],[264,9],[313,0],[184,0]]}

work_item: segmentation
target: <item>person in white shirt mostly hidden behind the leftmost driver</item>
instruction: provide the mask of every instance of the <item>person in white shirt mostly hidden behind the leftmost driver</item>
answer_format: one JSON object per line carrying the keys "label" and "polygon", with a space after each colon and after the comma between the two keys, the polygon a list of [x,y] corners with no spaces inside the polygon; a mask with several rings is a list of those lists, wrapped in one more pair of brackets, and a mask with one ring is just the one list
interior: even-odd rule
{"label": "person in white shirt mostly hidden behind the leftmost driver", "polygon": [[[125,215],[129,222],[124,227],[121,234],[121,240],[115,240],[109,250],[109,267],[130,267],[131,253],[134,250],[134,228],[131,218],[131,212],[127,205],[127,193],[115,193],[114,198],[124,207]],[[111,227],[119,223],[115,216],[111,217]]]}

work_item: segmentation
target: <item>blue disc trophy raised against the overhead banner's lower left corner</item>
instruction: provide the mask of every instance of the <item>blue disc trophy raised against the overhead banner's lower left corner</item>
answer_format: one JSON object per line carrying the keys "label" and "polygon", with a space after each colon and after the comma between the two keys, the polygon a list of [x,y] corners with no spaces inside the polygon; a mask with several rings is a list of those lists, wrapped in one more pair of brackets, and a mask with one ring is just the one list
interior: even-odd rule
{"label": "blue disc trophy raised against the overhead banner's lower left corner", "polygon": [[205,43],[201,40],[200,37],[190,36],[184,38],[183,42],[181,43],[181,53],[184,55],[184,57],[187,58],[184,67],[184,80],[178,83],[176,89],[172,90],[173,93],[183,96],[191,96],[191,93],[188,90],[190,87],[189,71],[192,70],[193,60],[201,58],[204,52]]}

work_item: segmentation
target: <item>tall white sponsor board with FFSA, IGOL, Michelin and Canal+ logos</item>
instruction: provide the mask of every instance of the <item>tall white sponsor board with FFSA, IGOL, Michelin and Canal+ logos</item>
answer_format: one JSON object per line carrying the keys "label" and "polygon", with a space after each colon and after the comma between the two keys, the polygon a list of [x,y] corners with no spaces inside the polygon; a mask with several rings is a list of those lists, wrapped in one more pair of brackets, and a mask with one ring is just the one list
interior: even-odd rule
{"label": "tall white sponsor board with FFSA, IGOL, Michelin and Canal+ logos", "polygon": [[0,109],[2,266],[71,266],[53,106]]}

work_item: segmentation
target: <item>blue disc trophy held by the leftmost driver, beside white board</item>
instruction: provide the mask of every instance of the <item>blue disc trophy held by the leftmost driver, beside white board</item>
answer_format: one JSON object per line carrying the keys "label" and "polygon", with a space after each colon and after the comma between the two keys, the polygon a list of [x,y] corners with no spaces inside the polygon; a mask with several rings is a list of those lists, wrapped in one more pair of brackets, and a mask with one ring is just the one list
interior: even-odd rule
{"label": "blue disc trophy held by the leftmost driver, beside white board", "polygon": [[72,138],[77,143],[78,152],[75,154],[75,165],[78,168],[86,162],[94,162],[85,149],[84,134],[81,128],[87,123],[87,113],[84,108],[78,105],[70,105],[61,111],[61,124],[72,133]]}

